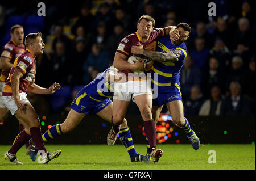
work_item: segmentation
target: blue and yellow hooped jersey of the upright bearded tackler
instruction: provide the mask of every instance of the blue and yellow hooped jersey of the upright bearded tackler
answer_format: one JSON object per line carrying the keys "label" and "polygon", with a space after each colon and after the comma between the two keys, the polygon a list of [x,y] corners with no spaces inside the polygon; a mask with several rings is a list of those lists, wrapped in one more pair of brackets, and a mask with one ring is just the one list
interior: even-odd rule
{"label": "blue and yellow hooped jersey of the upright bearded tackler", "polygon": [[[187,57],[187,47],[185,43],[182,43],[179,46],[174,45],[171,43],[169,36],[164,36],[158,40],[156,50],[163,53],[172,51],[179,59],[177,62],[155,61],[151,69],[151,81],[155,85],[158,85],[158,91],[169,92],[171,89],[170,86],[179,82],[179,73],[184,65],[185,58]],[[158,77],[155,77],[154,73],[157,73]]]}

